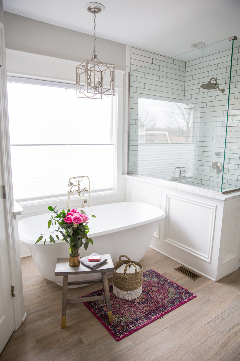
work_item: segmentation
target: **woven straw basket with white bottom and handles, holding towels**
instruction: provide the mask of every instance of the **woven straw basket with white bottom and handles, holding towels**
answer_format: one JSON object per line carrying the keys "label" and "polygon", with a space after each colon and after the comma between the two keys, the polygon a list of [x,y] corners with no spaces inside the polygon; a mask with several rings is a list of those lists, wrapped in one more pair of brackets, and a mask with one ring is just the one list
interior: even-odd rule
{"label": "woven straw basket with white bottom and handles, holding towels", "polygon": [[[127,260],[121,260],[125,257]],[[116,270],[126,264],[123,273],[118,273]],[[135,273],[127,273],[127,267],[133,265],[135,267]],[[141,268],[137,271],[136,265]],[[115,296],[124,300],[133,300],[139,297],[142,293],[142,265],[139,262],[130,260],[126,255],[121,255],[119,261],[114,263],[113,271],[113,293]]]}

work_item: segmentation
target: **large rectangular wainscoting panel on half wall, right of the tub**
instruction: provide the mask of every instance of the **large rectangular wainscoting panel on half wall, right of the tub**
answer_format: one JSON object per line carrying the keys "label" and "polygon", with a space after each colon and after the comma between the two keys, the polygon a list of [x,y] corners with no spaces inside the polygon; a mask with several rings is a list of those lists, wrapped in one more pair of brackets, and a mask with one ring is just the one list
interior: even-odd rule
{"label": "large rectangular wainscoting panel on half wall, right of the tub", "polygon": [[164,242],[211,263],[216,205],[166,195]]}

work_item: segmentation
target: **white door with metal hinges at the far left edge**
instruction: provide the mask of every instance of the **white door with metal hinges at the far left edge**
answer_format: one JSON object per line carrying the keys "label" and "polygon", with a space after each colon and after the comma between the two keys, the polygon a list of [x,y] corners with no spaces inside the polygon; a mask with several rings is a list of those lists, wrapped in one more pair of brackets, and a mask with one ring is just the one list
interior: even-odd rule
{"label": "white door with metal hinges at the far left edge", "polygon": [[[3,350],[15,329],[14,314],[16,314],[13,304],[14,298],[11,295],[9,264],[9,259],[13,259],[12,254],[15,254],[15,249],[13,231],[11,231],[10,226],[13,223],[13,200],[12,177],[9,171],[10,155],[5,64],[3,25],[0,23],[0,352]],[[6,199],[3,197],[3,185],[6,186]],[[13,266],[14,265],[11,265],[11,269],[14,268]],[[17,284],[16,286],[18,288]]]}

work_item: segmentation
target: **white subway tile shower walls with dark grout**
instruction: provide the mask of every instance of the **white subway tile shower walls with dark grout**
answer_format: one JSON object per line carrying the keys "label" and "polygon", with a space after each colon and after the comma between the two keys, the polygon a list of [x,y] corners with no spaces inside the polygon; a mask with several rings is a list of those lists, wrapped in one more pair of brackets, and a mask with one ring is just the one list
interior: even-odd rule
{"label": "white subway tile shower walls with dark grout", "polygon": [[[185,62],[131,47],[129,173],[171,180],[174,168],[185,166],[187,184],[217,191],[240,187],[239,47],[233,53],[226,137],[231,49]],[[225,88],[225,93],[200,88],[211,77],[217,79],[220,89]],[[139,98],[191,104],[193,143],[172,143],[171,149],[166,143],[139,144]],[[223,163],[225,138],[222,177],[222,173],[213,172],[212,163]],[[215,152],[221,152],[221,156]]]}

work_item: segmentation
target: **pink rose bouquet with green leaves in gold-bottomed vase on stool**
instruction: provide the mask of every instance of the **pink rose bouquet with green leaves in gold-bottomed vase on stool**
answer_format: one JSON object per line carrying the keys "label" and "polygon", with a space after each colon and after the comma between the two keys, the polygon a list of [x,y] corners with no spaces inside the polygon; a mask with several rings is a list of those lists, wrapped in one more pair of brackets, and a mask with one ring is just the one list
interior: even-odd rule
{"label": "pink rose bouquet with green leaves in gold-bottomed vase on stool", "polygon": [[[56,232],[60,232],[63,236],[64,241],[69,244],[69,266],[79,266],[80,265],[80,252],[79,249],[83,245],[85,250],[87,249],[89,243],[93,244],[92,239],[87,236],[89,232],[89,227],[87,226],[87,221],[89,220],[89,215],[80,209],[80,212],[77,212],[77,209],[68,209],[67,213],[62,210],[62,212],[58,212],[56,206],[53,208],[52,206],[48,207],[49,210],[53,211],[51,214],[51,218],[48,222],[48,229],[51,225],[58,223],[58,229],[52,232],[49,232],[49,240],[50,243],[56,243],[53,234]],[[96,218],[94,215],[92,217]],[[62,229],[62,230],[60,230]],[[40,242],[45,236],[44,244],[46,243],[46,235],[41,234],[37,242]],[[56,234],[56,238],[59,240],[59,236]],[[35,244],[36,244],[35,243]]]}

